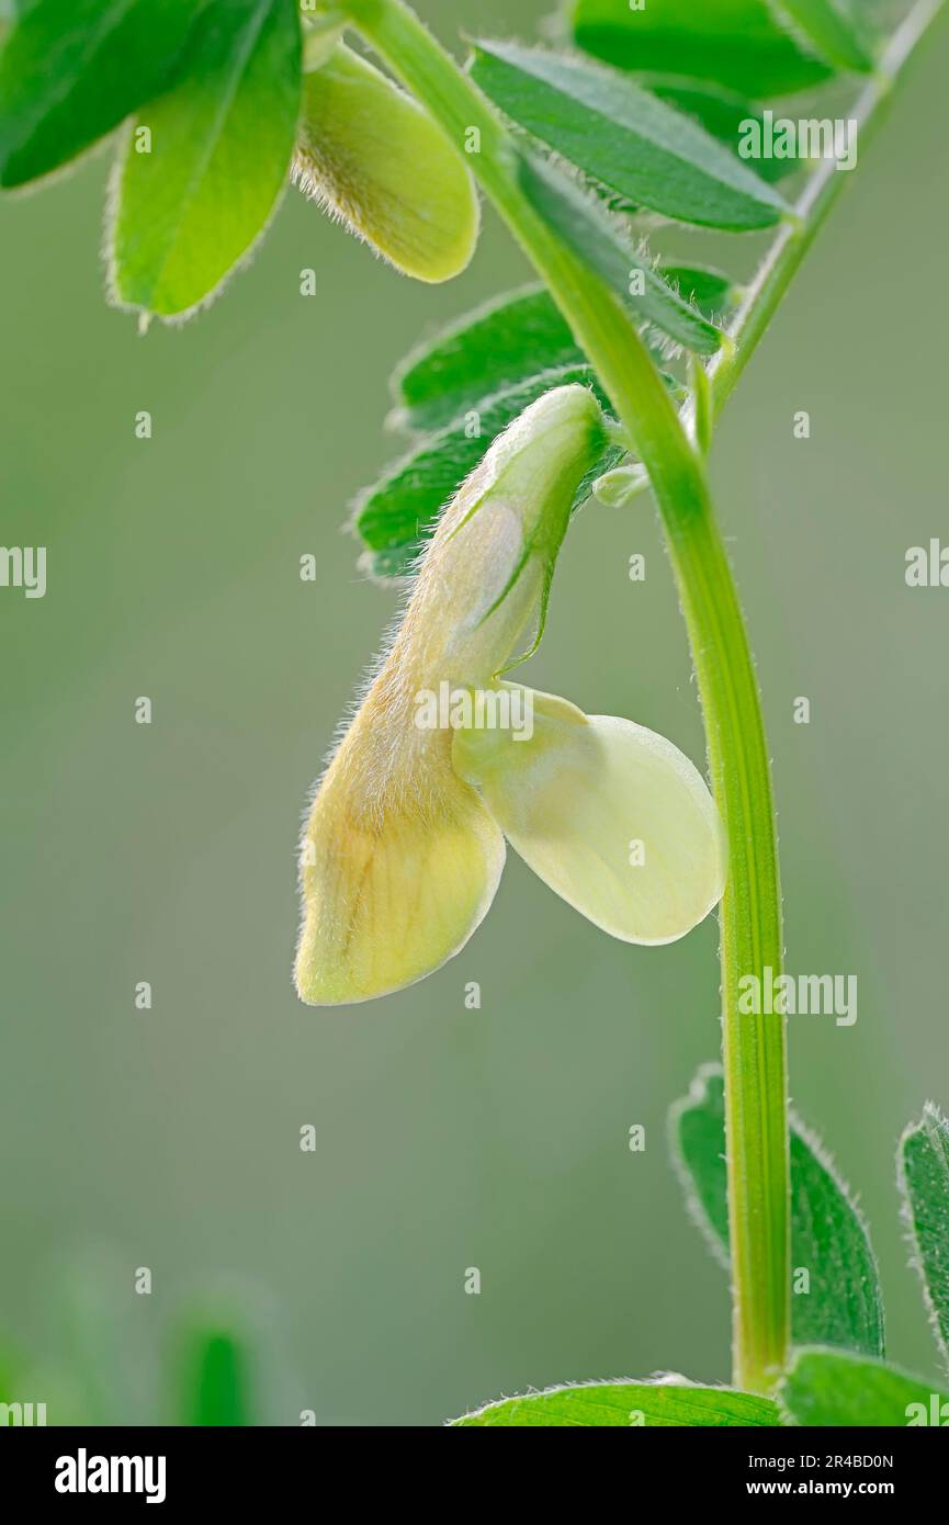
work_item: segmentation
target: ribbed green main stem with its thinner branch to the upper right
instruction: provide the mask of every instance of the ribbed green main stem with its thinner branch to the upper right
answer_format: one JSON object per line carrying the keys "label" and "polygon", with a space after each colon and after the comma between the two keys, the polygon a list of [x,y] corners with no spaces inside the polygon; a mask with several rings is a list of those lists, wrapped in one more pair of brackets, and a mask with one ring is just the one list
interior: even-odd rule
{"label": "ribbed green main stem with its thinner branch to the upper right", "polygon": [[[920,0],[862,98],[868,120],[938,11]],[[403,0],[345,0],[369,44],[426,102],[507,220],[595,366],[648,471],[671,552],[688,627],[708,737],[709,772],[729,842],[722,903],[722,1013],[726,1081],[726,1156],[732,1260],[734,1382],[767,1391],[784,1365],[789,1337],[789,1167],[786,1031],[780,1017],[743,1016],[743,976],[781,968],[781,897],[770,770],[754,665],[700,456],[691,448],[618,297],[525,200],[517,149],[490,104]],[[925,14],[925,15],[923,15]],[[838,181],[845,178],[836,177]],[[839,186],[815,175],[801,206],[764,262],[738,313],[737,349],[711,368],[717,410],[796,270]]]}

